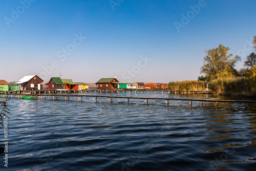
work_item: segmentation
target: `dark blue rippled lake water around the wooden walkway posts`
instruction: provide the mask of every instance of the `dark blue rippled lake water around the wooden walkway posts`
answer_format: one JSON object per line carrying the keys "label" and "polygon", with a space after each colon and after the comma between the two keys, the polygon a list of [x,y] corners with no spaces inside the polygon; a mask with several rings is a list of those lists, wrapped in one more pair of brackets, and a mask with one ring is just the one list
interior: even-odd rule
{"label": "dark blue rippled lake water around the wooden walkway posts", "polygon": [[[88,95],[98,93],[87,93]],[[169,98],[181,94],[98,95]],[[0,100],[3,100],[1,98]],[[255,170],[256,104],[92,97],[9,101],[8,168],[0,170]],[[0,128],[0,146],[4,131]]]}

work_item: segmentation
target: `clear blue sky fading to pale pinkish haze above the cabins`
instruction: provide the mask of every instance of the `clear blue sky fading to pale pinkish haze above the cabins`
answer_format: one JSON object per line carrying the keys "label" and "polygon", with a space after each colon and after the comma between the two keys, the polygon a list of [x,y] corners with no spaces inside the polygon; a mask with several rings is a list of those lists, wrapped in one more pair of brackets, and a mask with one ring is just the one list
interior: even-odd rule
{"label": "clear blue sky fading to pale pinkish haze above the cabins", "polygon": [[[205,50],[254,49],[256,1],[0,1],[0,79],[196,80]],[[194,9],[194,10],[193,10]],[[243,62],[237,63],[237,69]]]}

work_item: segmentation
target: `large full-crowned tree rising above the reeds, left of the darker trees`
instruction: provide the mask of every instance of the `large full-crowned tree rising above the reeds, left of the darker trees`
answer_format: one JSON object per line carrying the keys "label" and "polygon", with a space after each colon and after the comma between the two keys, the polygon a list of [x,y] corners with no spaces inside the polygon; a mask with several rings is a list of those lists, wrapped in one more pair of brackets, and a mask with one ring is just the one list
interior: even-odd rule
{"label": "large full-crowned tree rising above the reeds, left of the darker trees", "polygon": [[230,49],[223,45],[219,45],[214,49],[205,50],[204,65],[201,67],[201,73],[205,74],[208,80],[220,77],[232,77],[237,71],[234,69],[236,62],[241,57],[228,54]]}

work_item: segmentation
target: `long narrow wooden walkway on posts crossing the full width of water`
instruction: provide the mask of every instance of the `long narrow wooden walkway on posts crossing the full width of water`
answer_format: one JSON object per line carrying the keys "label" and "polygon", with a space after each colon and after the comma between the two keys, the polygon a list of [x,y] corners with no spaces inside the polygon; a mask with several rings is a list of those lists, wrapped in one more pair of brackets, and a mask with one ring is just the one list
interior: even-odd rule
{"label": "long narrow wooden walkway on posts crossing the full width of water", "polygon": [[[25,96],[25,94],[2,94],[3,97],[6,98],[22,98],[22,96]],[[78,100],[82,101],[82,98],[86,98],[86,97],[92,97],[93,101],[94,99],[96,100],[96,102],[98,101],[98,98],[108,98],[109,102],[113,102],[113,99],[115,98],[119,98],[119,99],[125,99],[126,103],[129,103],[130,99],[141,99],[141,100],[145,100],[144,103],[148,104],[148,100],[165,100],[165,103],[168,105],[169,101],[189,101],[189,105],[192,106],[192,102],[193,101],[200,101],[200,102],[214,102],[216,106],[218,106],[218,102],[225,102],[225,103],[244,103],[245,107],[247,107],[247,103],[255,103],[256,101],[249,101],[249,100],[218,100],[215,98],[152,98],[152,97],[123,97],[123,96],[104,96],[104,95],[69,95],[69,94],[65,94],[65,95],[58,95],[58,94],[29,94],[29,96],[34,96],[37,97],[39,99],[46,99],[46,97],[52,97],[52,99],[60,99],[60,97],[62,99],[69,100],[70,97],[77,97]]]}

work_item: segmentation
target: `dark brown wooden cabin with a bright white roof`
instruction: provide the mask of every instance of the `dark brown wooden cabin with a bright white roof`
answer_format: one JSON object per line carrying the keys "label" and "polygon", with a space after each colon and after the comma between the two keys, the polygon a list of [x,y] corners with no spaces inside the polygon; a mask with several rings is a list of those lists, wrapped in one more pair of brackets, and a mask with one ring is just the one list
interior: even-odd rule
{"label": "dark brown wooden cabin with a bright white roof", "polygon": [[37,75],[28,75],[15,84],[19,85],[19,90],[42,90],[42,82],[44,82],[44,80]]}

